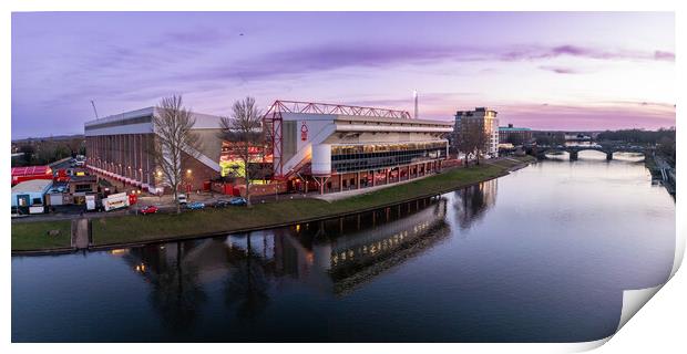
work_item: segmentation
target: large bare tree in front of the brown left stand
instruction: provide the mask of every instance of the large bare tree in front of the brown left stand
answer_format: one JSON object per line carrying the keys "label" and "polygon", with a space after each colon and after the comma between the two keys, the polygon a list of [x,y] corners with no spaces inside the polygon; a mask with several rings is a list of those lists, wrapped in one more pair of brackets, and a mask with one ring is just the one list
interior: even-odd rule
{"label": "large bare tree in front of the brown left stand", "polygon": [[164,97],[153,115],[155,144],[152,156],[155,165],[163,174],[163,184],[167,184],[174,192],[176,212],[181,212],[178,187],[183,183],[183,166],[188,158],[197,158],[201,142],[193,133],[195,118],[189,110],[182,104],[182,96]]}

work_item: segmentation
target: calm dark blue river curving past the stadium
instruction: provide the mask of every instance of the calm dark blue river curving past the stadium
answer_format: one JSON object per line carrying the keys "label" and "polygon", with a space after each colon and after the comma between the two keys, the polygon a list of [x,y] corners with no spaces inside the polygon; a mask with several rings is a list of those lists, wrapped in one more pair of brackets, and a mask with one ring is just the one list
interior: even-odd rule
{"label": "calm dark blue river curving past the stadium", "polygon": [[595,154],[345,219],[12,257],[12,341],[598,340],[623,290],[667,280],[675,201]]}

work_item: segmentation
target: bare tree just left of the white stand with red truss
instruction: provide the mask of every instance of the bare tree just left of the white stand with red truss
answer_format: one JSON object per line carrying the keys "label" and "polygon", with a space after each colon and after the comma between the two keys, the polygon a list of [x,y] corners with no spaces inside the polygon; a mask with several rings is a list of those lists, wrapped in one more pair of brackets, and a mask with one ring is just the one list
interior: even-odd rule
{"label": "bare tree just left of the white stand with red truss", "polygon": [[255,98],[247,96],[234,102],[232,116],[222,117],[222,138],[230,142],[230,152],[243,163],[243,177],[246,180],[246,202],[250,206],[250,179],[255,176],[252,160],[263,153],[262,111]]}

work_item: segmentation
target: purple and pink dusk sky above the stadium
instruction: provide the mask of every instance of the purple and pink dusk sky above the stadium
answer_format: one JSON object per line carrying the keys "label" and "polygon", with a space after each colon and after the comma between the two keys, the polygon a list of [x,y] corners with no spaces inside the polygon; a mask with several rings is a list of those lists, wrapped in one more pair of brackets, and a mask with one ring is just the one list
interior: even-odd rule
{"label": "purple and pink dusk sky above the stadium", "polygon": [[452,119],[488,106],[535,129],[675,126],[670,12],[14,12],[12,138],[183,95],[247,95]]}

